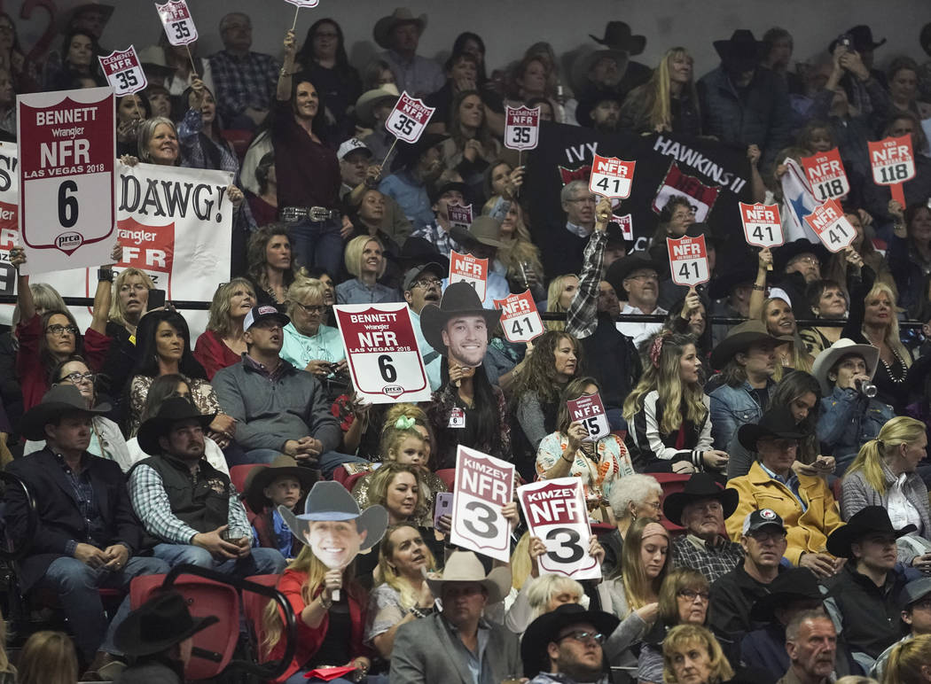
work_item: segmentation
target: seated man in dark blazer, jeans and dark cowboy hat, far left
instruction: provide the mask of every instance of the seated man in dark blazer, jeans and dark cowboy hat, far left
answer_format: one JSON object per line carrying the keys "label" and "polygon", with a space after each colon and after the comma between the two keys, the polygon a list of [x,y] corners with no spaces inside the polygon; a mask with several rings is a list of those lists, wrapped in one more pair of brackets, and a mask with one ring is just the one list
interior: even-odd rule
{"label": "seated man in dark blazer, jeans and dark cowboy hat, far left", "polygon": [[26,541],[30,516],[38,518],[20,560],[20,591],[44,586],[58,595],[83,664],[93,661],[90,670],[119,652],[113,634],[129,613],[127,596],[107,631],[98,589],[128,589],[134,577],[169,571],[164,561],[137,555],[142,526],[132,515],[119,466],[88,453],[91,418],[109,410],[106,404],[88,409],[74,385],[52,387],[20,422],[20,434],[45,439],[46,448],[7,465],[36,508],[31,514],[24,492],[8,487],[7,534],[17,544]]}

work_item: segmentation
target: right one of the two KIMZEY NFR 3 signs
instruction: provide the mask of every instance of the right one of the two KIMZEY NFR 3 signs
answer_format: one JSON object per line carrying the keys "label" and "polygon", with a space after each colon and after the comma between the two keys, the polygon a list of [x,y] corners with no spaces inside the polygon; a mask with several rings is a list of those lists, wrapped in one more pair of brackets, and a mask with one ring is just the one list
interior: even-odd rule
{"label": "right one of the two KIMZEY NFR 3 signs", "polygon": [[520,507],[533,537],[546,544],[540,572],[573,580],[601,577],[598,561],[588,555],[588,514],[582,480],[558,477],[518,488]]}

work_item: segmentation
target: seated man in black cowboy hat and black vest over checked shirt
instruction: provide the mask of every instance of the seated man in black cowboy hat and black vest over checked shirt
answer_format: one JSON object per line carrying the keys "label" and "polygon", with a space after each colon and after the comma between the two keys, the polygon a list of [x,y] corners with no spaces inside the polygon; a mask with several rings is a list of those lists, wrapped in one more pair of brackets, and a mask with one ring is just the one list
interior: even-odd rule
{"label": "seated man in black cowboy hat and black vest over checked shirt", "polygon": [[192,563],[242,577],[280,573],[284,557],[251,548],[236,488],[204,458],[204,428],[212,420],[186,398],[172,397],[142,423],[139,446],[151,458],[129,471],[136,515],[158,542],[155,557],[172,566]]}

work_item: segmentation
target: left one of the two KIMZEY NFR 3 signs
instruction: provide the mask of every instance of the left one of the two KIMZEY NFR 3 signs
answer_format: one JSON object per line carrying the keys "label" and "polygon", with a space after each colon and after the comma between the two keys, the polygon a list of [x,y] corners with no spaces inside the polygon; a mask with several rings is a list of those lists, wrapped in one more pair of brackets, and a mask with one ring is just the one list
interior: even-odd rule
{"label": "left one of the two KIMZEY NFR 3 signs", "polygon": [[511,528],[501,509],[514,496],[514,465],[460,444],[452,492],[450,543],[507,562]]}

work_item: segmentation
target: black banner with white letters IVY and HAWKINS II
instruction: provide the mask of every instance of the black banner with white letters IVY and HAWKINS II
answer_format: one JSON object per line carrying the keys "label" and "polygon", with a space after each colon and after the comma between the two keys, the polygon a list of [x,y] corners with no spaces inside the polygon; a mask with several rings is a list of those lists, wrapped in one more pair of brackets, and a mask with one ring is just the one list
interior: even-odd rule
{"label": "black banner with white letters IVY and HAWKINS II", "polygon": [[[671,133],[599,133],[544,122],[523,185],[531,195],[530,224],[538,245],[559,244],[559,231],[565,226],[560,190],[570,181],[587,184],[596,154],[637,163],[630,196],[615,202],[615,213],[631,217],[635,249],[647,247],[660,210],[676,195],[688,199],[695,208],[695,221],[708,222],[716,235],[743,235],[738,203],[751,201],[746,150]],[[746,245],[741,238],[724,243],[721,249],[732,248]]]}

